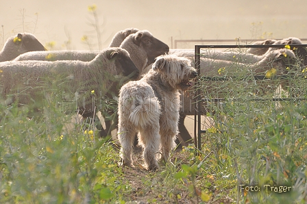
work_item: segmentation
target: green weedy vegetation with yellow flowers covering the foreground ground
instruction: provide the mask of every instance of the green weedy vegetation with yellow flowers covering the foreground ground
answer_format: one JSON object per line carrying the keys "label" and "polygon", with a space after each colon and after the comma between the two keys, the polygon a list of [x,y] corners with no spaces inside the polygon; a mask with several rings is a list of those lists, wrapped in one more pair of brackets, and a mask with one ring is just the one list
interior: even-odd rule
{"label": "green weedy vegetation with yellow flowers covering the foreground ground", "polygon": [[[297,100],[306,97],[304,73],[291,73],[284,101],[271,100],[278,79],[210,81],[217,89],[206,96],[221,92],[225,101],[206,103],[214,123],[201,150],[185,146],[156,172],[143,169],[139,151],[136,168],[119,166],[116,145],[67,111],[75,103],[59,106],[56,86],[44,91],[39,115],[1,105],[0,203],[304,203],[307,105]],[[210,90],[206,83],[201,90]]]}

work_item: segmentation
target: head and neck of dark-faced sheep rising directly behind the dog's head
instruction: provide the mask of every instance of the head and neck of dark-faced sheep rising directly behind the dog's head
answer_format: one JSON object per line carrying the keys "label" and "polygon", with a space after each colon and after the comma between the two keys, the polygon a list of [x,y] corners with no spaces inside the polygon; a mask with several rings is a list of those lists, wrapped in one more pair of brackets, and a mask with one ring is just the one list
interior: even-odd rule
{"label": "head and neck of dark-faced sheep rising directly behind the dog's head", "polygon": [[147,30],[130,34],[123,40],[120,47],[130,53],[132,61],[139,68],[140,74],[145,73],[145,67],[155,62],[156,57],[169,53],[169,46],[154,38]]}

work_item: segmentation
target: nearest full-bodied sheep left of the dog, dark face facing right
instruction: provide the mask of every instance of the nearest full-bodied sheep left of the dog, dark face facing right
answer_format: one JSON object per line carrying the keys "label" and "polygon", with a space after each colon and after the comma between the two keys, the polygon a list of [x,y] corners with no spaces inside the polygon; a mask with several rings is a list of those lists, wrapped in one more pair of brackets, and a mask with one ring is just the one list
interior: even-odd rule
{"label": "nearest full-bodied sheep left of the dog, dark face facing right", "polygon": [[44,91],[48,91],[47,86],[42,86],[46,83],[44,80],[62,80],[58,88],[72,97],[79,96],[77,107],[84,118],[93,116],[95,108],[93,95],[88,92],[94,94],[95,106],[101,109],[97,103],[101,97],[117,96],[126,81],[138,77],[138,68],[129,53],[121,48],[104,49],[90,62],[10,61],[1,62],[0,70],[0,93],[6,105],[14,101],[19,105],[32,105],[35,101],[34,110],[40,109],[38,104],[46,97]]}

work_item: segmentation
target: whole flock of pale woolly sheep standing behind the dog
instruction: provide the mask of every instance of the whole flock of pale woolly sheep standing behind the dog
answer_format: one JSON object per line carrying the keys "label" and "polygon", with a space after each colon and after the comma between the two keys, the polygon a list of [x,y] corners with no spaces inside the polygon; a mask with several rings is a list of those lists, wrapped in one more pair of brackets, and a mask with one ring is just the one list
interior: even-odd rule
{"label": "whole flock of pale woolly sheep standing behind the dog", "polygon": [[[298,38],[283,40],[262,40],[254,44],[302,44]],[[162,54],[169,53],[186,58],[194,58],[193,49],[169,49],[167,44],[153,37],[147,30],[124,29],[116,33],[110,46],[102,51],[46,51],[45,47],[32,34],[18,34],[9,38],[0,53],[0,103],[29,105],[35,101],[34,110],[38,111],[40,101],[47,97],[42,90],[46,79],[50,83],[61,79],[58,88],[77,98],[78,111],[84,118],[103,107],[93,106],[90,94],[95,99],[102,96],[115,99],[119,89],[127,81],[140,79],[151,68],[151,64]],[[225,73],[236,73],[238,67],[247,67],[254,75],[264,75],[271,68],[276,74],[286,74],[288,68],[299,62],[307,65],[305,48],[291,49],[250,48],[245,51],[201,52],[201,75],[214,77]],[[219,72],[223,68],[225,73]],[[210,81],[204,87],[210,92]],[[264,88],[265,89],[265,88]],[[82,98],[80,96],[86,96]],[[186,115],[194,114],[191,108],[191,94],[183,93],[180,117],[180,137],[183,142],[191,140],[184,127]],[[97,108],[97,110],[95,110]],[[101,114],[109,114],[108,112]],[[116,117],[113,125],[116,125]],[[112,130],[112,122],[106,121],[106,130],[101,124],[97,127],[101,136]]]}

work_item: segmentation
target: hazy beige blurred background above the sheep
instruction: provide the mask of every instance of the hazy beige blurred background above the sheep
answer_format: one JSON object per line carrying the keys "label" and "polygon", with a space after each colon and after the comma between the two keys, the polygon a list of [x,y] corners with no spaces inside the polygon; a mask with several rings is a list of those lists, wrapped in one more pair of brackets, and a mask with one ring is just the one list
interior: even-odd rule
{"label": "hazy beige blurred background above the sheep", "polygon": [[170,48],[173,40],[306,38],[307,32],[304,0],[12,0],[1,1],[0,47],[9,36],[27,31],[44,45],[53,42],[52,49],[88,49],[83,36],[98,49],[89,5],[97,6],[103,48],[117,31],[128,27],[148,29]]}

